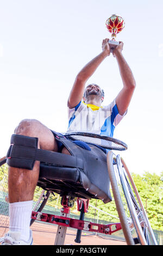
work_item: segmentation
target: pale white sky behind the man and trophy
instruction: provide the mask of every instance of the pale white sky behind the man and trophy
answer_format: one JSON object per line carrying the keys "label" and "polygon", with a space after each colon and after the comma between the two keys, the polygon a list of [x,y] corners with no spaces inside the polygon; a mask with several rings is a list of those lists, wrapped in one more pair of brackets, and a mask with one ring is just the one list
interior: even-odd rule
{"label": "pale white sky behind the man and trophy", "polygon": [[[162,157],[162,0],[1,0],[0,156],[20,120],[35,118],[58,132],[67,130],[67,98],[80,69],[110,37],[105,21],[121,15],[117,35],[136,80],[128,114],[114,138],[128,145],[117,152],[130,170],[160,174]],[[88,82],[99,84],[108,105],[120,92],[116,59],[104,60]]]}

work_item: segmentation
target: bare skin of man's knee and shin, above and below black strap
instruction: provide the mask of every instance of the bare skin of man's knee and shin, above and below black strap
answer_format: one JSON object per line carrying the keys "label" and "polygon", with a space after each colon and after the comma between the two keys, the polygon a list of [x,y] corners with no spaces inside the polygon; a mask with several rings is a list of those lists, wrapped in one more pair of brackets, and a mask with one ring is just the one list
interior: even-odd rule
{"label": "bare skin of man's knee and shin, above and below black strap", "polygon": [[[25,119],[16,127],[17,135],[39,138],[38,148],[58,151],[54,135],[45,125],[34,119]],[[9,167],[9,203],[33,200],[39,179],[40,162],[35,161],[33,170]]]}

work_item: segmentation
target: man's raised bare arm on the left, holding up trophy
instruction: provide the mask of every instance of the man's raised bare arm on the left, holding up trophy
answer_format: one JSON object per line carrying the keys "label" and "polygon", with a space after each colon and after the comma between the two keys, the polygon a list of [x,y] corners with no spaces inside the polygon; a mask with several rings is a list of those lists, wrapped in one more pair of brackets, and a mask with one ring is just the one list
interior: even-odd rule
{"label": "man's raised bare arm on the left, holding up trophy", "polygon": [[73,108],[78,105],[78,103],[82,100],[86,81],[93,75],[103,60],[110,55],[110,47],[108,44],[106,44],[106,42],[108,42],[107,38],[102,42],[103,51],[89,63],[87,63],[77,75],[68,98],[68,107]]}

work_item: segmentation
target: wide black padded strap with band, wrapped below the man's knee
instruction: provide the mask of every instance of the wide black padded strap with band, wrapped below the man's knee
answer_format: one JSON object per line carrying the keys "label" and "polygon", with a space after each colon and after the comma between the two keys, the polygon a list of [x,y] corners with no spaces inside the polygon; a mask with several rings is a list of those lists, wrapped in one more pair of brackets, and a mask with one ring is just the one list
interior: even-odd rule
{"label": "wide black padded strap with band, wrapped below the man's knee", "polygon": [[12,135],[7,153],[7,163],[11,167],[32,170],[35,161],[54,164],[55,166],[84,168],[83,159],[77,156],[61,154],[37,148],[38,138]]}

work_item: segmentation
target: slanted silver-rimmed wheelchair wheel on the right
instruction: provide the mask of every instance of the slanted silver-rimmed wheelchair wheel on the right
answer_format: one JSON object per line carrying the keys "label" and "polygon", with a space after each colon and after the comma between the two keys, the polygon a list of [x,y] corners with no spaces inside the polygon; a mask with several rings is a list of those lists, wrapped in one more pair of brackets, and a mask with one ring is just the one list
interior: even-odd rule
{"label": "slanted silver-rimmed wheelchair wheel on the right", "polygon": [[109,151],[107,163],[112,193],[127,244],[157,245],[139,193],[123,159]]}

